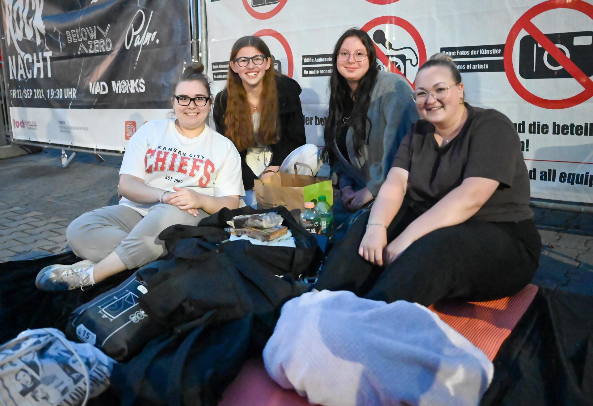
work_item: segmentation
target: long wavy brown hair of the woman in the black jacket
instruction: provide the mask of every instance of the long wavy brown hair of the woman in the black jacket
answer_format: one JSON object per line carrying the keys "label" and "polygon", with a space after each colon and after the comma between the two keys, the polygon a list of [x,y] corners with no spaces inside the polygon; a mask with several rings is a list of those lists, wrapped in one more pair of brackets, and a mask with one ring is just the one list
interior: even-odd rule
{"label": "long wavy brown hair of the woman in the black jacket", "polygon": [[[260,113],[259,127],[257,129],[257,138],[261,145],[270,145],[278,142],[280,139],[278,124],[278,92],[276,91],[276,71],[274,70],[274,61],[270,54],[270,49],[266,43],[259,37],[247,36],[241,37],[232,46],[231,58],[235,59],[241,48],[252,46],[259,52],[269,57],[272,65],[263,76],[263,88],[260,95],[258,109]],[[256,142],[253,137],[253,122],[251,121],[251,105],[247,100],[247,93],[243,87],[243,82],[238,73],[231,69],[229,63],[227,80],[227,112],[224,118],[225,136],[235,144],[238,151],[244,151]]]}

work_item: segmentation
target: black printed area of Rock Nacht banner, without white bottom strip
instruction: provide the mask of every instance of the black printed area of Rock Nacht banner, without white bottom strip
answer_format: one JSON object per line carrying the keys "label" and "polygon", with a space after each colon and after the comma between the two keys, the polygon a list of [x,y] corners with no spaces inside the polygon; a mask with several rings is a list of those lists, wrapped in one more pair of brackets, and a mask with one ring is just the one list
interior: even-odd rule
{"label": "black printed area of Rock Nacht banner, without white bottom strip", "polygon": [[187,0],[1,0],[10,107],[169,108]]}

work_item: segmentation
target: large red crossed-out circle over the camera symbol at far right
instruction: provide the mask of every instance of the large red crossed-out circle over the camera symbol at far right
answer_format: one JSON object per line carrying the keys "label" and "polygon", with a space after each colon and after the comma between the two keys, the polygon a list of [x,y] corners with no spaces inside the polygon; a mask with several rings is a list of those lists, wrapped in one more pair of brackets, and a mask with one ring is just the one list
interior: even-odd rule
{"label": "large red crossed-out circle over the camera symbol at far right", "polygon": [[[506,37],[505,43],[504,63],[506,77],[509,79],[509,83],[515,89],[515,92],[517,92],[517,94],[524,100],[528,101],[534,106],[543,108],[569,108],[576,106],[577,104],[581,104],[593,96],[593,81],[591,81],[591,79],[589,79],[589,77],[585,75],[585,73],[578,66],[576,66],[574,62],[572,62],[572,60],[566,57],[566,55],[564,55],[564,53],[560,51],[556,45],[531,22],[535,16],[545,11],[559,8],[572,8],[573,10],[580,11],[593,18],[593,5],[588,4],[582,0],[572,0],[572,2],[548,0],[531,7],[527,10],[527,12],[525,12],[525,14],[519,17],[517,23],[512,26],[509,36]],[[570,73],[570,75],[572,75],[573,78],[575,78],[576,81],[585,88],[585,90],[572,97],[561,100],[548,100],[538,97],[528,91],[517,78],[517,73],[515,72],[515,68],[513,66],[513,47],[515,46],[515,42],[517,41],[517,37],[521,30],[527,31],[527,33],[530,34],[530,36],[532,36],[535,41],[537,41],[545,50],[547,50],[551,57],[556,59],[556,62],[560,63],[560,65],[562,65],[562,67],[565,68],[566,71],[568,71],[568,73]]]}

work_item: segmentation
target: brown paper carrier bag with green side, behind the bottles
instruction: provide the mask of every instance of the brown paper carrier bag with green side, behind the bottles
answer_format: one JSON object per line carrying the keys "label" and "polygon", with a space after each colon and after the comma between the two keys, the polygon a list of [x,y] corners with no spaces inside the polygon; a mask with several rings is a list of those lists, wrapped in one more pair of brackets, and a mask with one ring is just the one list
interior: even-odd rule
{"label": "brown paper carrier bag with green side, behind the bottles", "polygon": [[[308,167],[305,164],[295,164]],[[270,177],[256,179],[255,192],[258,209],[270,209],[284,206],[294,218],[298,218],[305,210],[305,203],[317,202],[322,194],[326,196],[327,203],[333,206],[333,187],[330,180],[324,180],[310,175],[294,175],[276,172]]]}

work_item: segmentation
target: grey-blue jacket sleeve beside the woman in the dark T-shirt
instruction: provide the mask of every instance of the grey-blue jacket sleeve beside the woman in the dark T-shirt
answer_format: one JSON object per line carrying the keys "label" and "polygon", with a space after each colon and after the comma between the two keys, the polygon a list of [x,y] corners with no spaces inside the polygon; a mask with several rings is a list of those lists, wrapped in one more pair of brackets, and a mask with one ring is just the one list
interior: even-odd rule
{"label": "grey-blue jacket sleeve beside the woman in the dark T-shirt", "polygon": [[383,156],[380,162],[373,162],[369,167],[371,180],[366,183],[366,188],[374,197],[377,197],[381,185],[387,178],[387,172],[391,169],[401,140],[410,132],[411,125],[420,118],[411,95],[412,88],[402,81],[385,95],[381,103],[381,114],[386,123]]}

